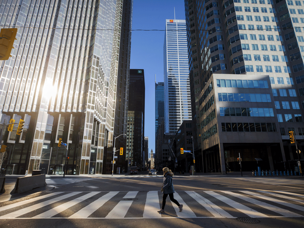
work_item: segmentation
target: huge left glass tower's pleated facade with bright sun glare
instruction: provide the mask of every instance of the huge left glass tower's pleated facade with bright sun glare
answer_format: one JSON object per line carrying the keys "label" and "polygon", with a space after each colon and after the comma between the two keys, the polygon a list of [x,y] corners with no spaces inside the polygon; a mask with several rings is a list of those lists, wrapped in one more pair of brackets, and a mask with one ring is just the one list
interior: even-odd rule
{"label": "huge left glass tower's pleated facade with bright sun glare", "polygon": [[20,136],[15,125],[3,138],[8,173],[63,174],[65,163],[67,174],[102,173],[113,151],[124,10],[121,0],[2,5],[0,26],[18,32],[0,63],[0,123],[25,121]]}

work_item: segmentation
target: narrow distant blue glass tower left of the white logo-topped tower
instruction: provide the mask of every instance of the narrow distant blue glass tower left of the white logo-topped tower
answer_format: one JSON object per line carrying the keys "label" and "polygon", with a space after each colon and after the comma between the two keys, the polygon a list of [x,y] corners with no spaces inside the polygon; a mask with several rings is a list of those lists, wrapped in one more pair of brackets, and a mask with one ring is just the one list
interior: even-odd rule
{"label": "narrow distant blue glass tower left of the white logo-topped tower", "polygon": [[155,154],[157,156],[157,138],[161,119],[164,118],[164,82],[155,81]]}

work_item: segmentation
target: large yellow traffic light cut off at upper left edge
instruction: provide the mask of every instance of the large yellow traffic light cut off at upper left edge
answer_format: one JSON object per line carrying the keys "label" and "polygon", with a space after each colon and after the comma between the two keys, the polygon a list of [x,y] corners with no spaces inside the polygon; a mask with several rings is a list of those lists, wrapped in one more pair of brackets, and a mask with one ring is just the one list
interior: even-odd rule
{"label": "large yellow traffic light cut off at upper left edge", "polygon": [[8,60],[16,39],[17,29],[1,29],[0,31],[0,60]]}

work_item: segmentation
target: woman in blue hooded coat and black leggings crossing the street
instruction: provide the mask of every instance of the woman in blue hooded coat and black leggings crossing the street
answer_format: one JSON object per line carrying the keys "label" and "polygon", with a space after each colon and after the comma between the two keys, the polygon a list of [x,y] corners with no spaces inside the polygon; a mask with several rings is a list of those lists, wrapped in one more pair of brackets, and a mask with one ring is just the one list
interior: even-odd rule
{"label": "woman in blue hooded coat and black leggings crossing the street", "polygon": [[174,202],[178,208],[179,208],[179,212],[181,212],[183,210],[183,205],[179,204],[178,201],[176,199],[174,199],[173,193],[174,191],[174,187],[173,187],[173,183],[172,183],[172,176],[174,175],[171,170],[169,170],[168,167],[163,168],[164,171],[164,184],[163,184],[163,203],[161,206],[161,210],[157,211],[158,213],[164,213],[164,208],[166,205],[166,198],[169,195],[169,198],[172,202]]}

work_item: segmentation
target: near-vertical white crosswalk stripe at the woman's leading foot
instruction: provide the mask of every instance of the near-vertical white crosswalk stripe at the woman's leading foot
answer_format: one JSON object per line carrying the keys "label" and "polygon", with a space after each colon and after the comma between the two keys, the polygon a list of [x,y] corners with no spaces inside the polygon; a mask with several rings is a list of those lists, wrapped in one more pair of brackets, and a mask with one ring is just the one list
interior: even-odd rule
{"label": "near-vertical white crosswalk stripe at the woman's leading foot", "polygon": [[158,209],[160,209],[158,191],[149,191],[147,193],[143,218],[161,218],[161,214],[157,212]]}

